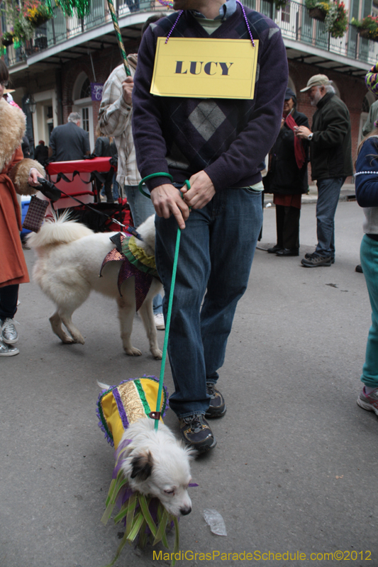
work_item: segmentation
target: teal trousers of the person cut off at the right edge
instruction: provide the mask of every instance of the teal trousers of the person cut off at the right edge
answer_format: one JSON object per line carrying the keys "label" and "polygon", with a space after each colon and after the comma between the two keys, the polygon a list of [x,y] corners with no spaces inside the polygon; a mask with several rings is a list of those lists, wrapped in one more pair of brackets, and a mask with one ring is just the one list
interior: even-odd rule
{"label": "teal trousers of the person cut off at the right edge", "polygon": [[370,388],[378,388],[378,242],[367,235],[362,238],[361,265],[372,305],[372,326],[367,336],[365,364],[361,380]]}

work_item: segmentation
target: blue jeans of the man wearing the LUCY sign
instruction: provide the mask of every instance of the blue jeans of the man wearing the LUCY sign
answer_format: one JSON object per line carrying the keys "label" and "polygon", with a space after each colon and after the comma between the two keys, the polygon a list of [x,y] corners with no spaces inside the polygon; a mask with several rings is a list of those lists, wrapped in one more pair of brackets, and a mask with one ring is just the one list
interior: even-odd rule
{"label": "blue jeans of the man wearing the LUCY sign", "polygon": [[[156,264],[167,298],[163,301],[166,318],[177,222],[173,216],[156,217],[155,225]],[[206,381],[218,380],[235,308],[248,285],[262,226],[261,193],[250,189],[218,191],[204,208],[191,210],[186,225],[168,342],[175,388],[169,406],[178,417],[204,414],[209,408]]]}

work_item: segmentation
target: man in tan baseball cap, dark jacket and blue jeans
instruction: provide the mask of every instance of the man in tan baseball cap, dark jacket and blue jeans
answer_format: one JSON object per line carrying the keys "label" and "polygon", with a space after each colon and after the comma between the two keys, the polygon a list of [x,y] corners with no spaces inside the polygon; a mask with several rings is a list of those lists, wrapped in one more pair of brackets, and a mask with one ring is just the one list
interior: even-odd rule
{"label": "man in tan baseball cap, dark jacket and blue jeans", "polygon": [[311,178],[316,179],[316,232],[318,245],[306,254],[301,264],[306,268],[330,266],[335,262],[335,212],[340,189],[353,174],[350,116],[345,103],[335,95],[326,75],[313,75],[306,92],[311,106],[316,106],[312,128],[299,126],[296,135],[310,142]]}

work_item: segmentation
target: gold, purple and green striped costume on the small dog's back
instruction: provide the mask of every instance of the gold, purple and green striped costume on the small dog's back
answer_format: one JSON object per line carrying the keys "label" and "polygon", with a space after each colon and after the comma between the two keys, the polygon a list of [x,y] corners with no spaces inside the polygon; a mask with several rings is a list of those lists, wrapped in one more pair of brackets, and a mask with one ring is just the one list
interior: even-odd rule
{"label": "gold, purple and green striped costume on the small dog's back", "polygon": [[[97,415],[106,439],[117,449],[128,426],[156,410],[159,381],[154,376],[131,378],[99,395]],[[160,412],[165,415],[168,393],[162,391]],[[162,419],[162,417],[160,417]]]}

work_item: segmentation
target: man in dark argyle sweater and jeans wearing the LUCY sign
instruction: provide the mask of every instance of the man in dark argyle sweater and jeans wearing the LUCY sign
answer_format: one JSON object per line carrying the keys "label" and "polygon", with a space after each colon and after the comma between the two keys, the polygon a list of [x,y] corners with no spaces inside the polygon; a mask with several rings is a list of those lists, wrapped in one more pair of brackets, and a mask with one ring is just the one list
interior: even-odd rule
{"label": "man in dark argyle sweater and jeans wearing the LUCY sign", "polygon": [[[157,213],[157,270],[167,298],[177,225],[184,229],[169,332],[175,388],[169,405],[184,441],[204,452],[216,446],[205,418],[226,413],[216,388],[218,369],[248,285],[262,225],[260,172],[279,133],[288,69],[280,30],[261,13],[236,0],[174,0],[174,9],[182,12],[150,26],[140,45],[133,135],[140,174],[165,172],[174,179],[147,181]],[[152,96],[157,38],[169,32],[169,38],[243,40],[251,40],[251,33],[260,40],[254,98]],[[164,309],[166,314],[167,302]]]}

